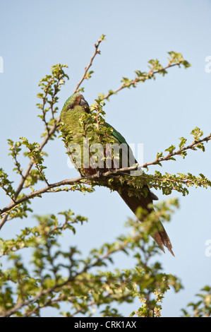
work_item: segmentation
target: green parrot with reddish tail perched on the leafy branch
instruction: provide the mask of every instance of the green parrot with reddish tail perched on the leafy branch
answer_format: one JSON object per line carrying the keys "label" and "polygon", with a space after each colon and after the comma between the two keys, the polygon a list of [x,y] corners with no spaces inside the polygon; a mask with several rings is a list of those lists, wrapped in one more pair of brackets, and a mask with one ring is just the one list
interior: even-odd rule
{"label": "green parrot with reddish tail perched on the leafy branch", "polygon": [[[83,130],[81,119],[85,113],[90,113],[90,107],[88,102],[86,102],[83,95],[80,93],[71,95],[71,97],[66,100],[64,107],[61,110],[61,121],[64,123],[66,132],[70,133],[68,136],[71,138],[71,150],[69,150],[69,152],[71,152],[70,155],[72,156],[72,162],[80,174],[86,176],[96,174],[100,169],[101,172],[107,172],[111,169],[128,167],[131,166],[131,162],[129,163],[128,160],[129,158],[134,160],[133,164],[135,164],[136,160],[133,156],[131,148],[128,146],[128,143],[126,143],[125,138],[123,138],[123,136],[121,136],[121,134],[116,131],[114,127],[112,127],[110,124],[107,124],[107,122],[104,122],[104,126],[107,129],[110,129],[112,143],[116,143],[118,146],[121,146],[121,150],[120,152],[114,154],[111,153],[109,144],[104,145],[104,149],[101,151],[102,155],[99,155],[99,153],[97,155],[97,160],[102,162],[101,167],[96,167],[96,154],[94,154],[94,152],[96,150],[100,150],[101,142],[98,135],[99,133],[96,132],[97,120],[96,124],[90,124],[86,127],[86,129]],[[91,150],[92,147],[94,148]],[[103,158],[105,155],[106,158]],[[124,160],[126,160],[127,165],[123,164]],[[99,166],[99,164],[97,164],[97,166]],[[112,174],[112,176],[115,177],[115,179],[118,179],[118,175]],[[158,198],[150,191],[146,184],[143,186],[143,188],[140,189],[141,192],[139,195],[131,195],[131,193],[129,194],[129,189],[130,187],[128,184],[123,184],[121,189],[119,189],[118,186],[116,187],[116,191],[118,191],[121,198],[123,198],[123,201],[125,201],[128,207],[131,208],[133,213],[135,213],[138,207],[142,207],[149,213],[153,211],[152,208],[148,207],[148,204],[152,203],[152,201],[157,200]],[[158,231],[155,232],[152,237],[163,251],[164,247],[167,247],[167,249],[169,249],[171,254],[174,256],[171,241],[160,221],[158,222]]]}

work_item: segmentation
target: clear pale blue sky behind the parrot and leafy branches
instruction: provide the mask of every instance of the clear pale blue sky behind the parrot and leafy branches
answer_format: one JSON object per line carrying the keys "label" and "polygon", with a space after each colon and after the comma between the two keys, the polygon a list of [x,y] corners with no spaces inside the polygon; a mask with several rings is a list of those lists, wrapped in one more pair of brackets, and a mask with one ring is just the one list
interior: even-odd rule
{"label": "clear pale blue sky behind the parrot and leafy branches", "polygon": [[[128,143],[143,143],[144,162],[155,160],[157,152],[179,137],[188,138],[195,126],[210,134],[210,79],[205,58],[211,55],[211,1],[1,1],[0,57],[4,73],[0,73],[1,159],[0,167],[13,177],[13,165],[8,157],[7,138],[14,141],[25,136],[29,141],[41,141],[42,123],[37,118],[35,104],[40,78],[52,65],[67,64],[70,81],[62,88],[59,109],[71,95],[84,67],[90,61],[94,43],[104,33],[107,41],[100,49],[86,81],[85,99],[91,104],[98,93],[118,88],[122,76],[134,77],[134,71],[146,71],[147,61],[159,59],[167,64],[167,52],[181,52],[191,62],[189,69],[174,67],[164,78],[147,81],[136,89],[123,90],[111,97],[104,110],[107,121],[126,138]],[[76,176],[67,166],[67,156],[61,140],[46,148],[49,182]],[[162,172],[203,173],[209,179],[211,144],[206,151],[191,151],[185,160],[167,162]],[[23,161],[26,165],[26,161]],[[152,167],[154,172],[155,167]],[[17,179],[13,180],[18,184]],[[41,185],[41,184],[40,184]],[[165,199],[161,192],[159,199]],[[157,259],[164,271],[179,276],[184,289],[175,295],[169,291],[163,303],[163,316],[179,316],[180,309],[194,300],[194,295],[210,283],[211,257],[205,256],[205,241],[211,239],[210,189],[190,189],[179,198],[180,209],[166,225],[176,258],[168,252]],[[8,203],[0,192],[1,206]],[[107,206],[105,209],[104,206]],[[71,244],[88,252],[93,246],[112,241],[125,232],[123,223],[133,213],[118,194],[99,188],[94,194],[60,193],[35,199],[36,213],[58,213],[71,208],[89,218],[88,225],[78,229]],[[102,213],[103,211],[103,213]],[[32,218],[8,222],[1,237],[9,238]],[[66,244],[69,245],[68,239]],[[130,267],[130,260],[121,257],[116,266]],[[136,306],[138,308],[138,303]],[[132,308],[132,309],[131,309]],[[134,306],[122,307],[125,316]],[[48,312],[49,315],[54,314]]]}

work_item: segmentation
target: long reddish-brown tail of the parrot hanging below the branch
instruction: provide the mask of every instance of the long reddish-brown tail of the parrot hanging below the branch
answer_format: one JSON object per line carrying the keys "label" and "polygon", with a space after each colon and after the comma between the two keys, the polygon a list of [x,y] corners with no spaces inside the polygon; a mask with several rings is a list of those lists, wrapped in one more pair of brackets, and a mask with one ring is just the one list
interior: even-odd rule
{"label": "long reddish-brown tail of the parrot hanging below the branch", "polygon": [[[125,201],[127,206],[135,213],[137,208],[141,206],[145,210],[152,212],[153,210],[148,208],[148,204],[152,203],[152,196],[150,193],[150,190],[148,190],[148,195],[145,197],[143,196],[141,199],[138,199],[136,196],[128,196],[128,189],[123,189],[121,192],[119,192],[119,195]],[[143,220],[140,220],[143,221]],[[167,235],[167,232],[165,231],[162,223],[159,221],[159,231],[156,232],[152,238],[155,239],[155,242],[159,245],[159,247],[164,251],[164,247],[167,247],[171,254],[174,256],[174,252],[172,251],[172,245],[171,241]],[[164,251],[165,252],[165,251]]]}

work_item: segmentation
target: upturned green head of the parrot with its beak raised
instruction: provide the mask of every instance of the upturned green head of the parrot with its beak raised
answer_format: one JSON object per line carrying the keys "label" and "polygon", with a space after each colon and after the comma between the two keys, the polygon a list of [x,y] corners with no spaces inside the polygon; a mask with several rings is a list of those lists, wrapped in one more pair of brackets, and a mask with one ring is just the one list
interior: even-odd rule
{"label": "upturned green head of the parrot with its beak raised", "polygon": [[84,99],[80,93],[74,93],[71,97],[66,100],[64,107],[61,112],[90,112],[88,102]]}

